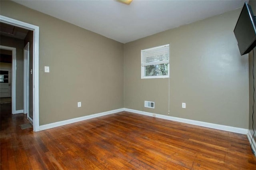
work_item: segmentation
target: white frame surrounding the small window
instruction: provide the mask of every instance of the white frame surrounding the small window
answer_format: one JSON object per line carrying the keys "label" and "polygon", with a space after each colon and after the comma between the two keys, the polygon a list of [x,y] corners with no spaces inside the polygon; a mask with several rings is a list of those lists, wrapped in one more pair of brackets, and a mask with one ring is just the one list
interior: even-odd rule
{"label": "white frame surrounding the small window", "polygon": [[[166,47],[166,46],[169,47],[168,75],[145,76],[145,65],[143,64],[144,57],[142,56],[142,53],[144,51],[153,51],[154,49],[159,49],[159,48]],[[152,63],[152,65],[154,65],[154,63]],[[169,78],[169,75],[170,75],[170,44],[160,45],[158,47],[152,47],[152,48],[141,50],[141,79]]]}

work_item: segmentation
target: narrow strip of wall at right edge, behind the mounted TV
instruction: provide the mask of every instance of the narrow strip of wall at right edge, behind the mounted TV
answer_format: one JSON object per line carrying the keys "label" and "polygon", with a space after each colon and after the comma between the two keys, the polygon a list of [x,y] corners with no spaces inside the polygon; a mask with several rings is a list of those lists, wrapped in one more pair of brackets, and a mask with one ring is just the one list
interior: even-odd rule
{"label": "narrow strip of wall at right edge, behind the mounted TV", "polygon": [[[254,16],[256,15],[256,1],[250,0],[249,5],[252,7],[252,11]],[[253,134],[252,130],[252,105],[253,105],[253,78],[252,78],[252,61],[253,55],[252,51],[249,53],[249,95],[250,95],[250,102],[249,102],[249,130]],[[254,57],[256,57],[256,47],[254,48]],[[254,76],[256,77],[256,58],[254,58]],[[256,86],[256,79],[254,79],[254,84]],[[256,95],[254,95],[256,99]],[[256,101],[255,101],[256,102]],[[256,105],[254,104],[254,130],[256,130]],[[256,140],[256,135],[254,135],[254,140]]]}

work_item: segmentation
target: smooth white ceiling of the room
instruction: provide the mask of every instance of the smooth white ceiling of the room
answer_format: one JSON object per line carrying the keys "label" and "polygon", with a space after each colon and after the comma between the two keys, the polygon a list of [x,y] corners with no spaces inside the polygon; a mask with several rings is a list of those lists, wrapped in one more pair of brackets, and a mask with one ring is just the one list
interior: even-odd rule
{"label": "smooth white ceiling of the room", "polygon": [[14,0],[121,43],[240,8],[248,0]]}

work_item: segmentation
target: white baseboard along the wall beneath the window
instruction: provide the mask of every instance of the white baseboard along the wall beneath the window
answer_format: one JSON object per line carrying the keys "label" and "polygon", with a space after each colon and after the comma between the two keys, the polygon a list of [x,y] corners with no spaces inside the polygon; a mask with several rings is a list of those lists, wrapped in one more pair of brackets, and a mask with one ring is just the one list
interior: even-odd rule
{"label": "white baseboard along the wall beneath the window", "polygon": [[[230,126],[226,126],[226,125],[218,125],[218,124],[214,124],[214,123],[194,121],[194,120],[190,120],[190,119],[172,117],[172,116],[167,116],[167,115],[159,115],[159,114],[155,114],[155,113],[138,111],[138,110],[134,110],[134,109],[124,108],[124,111],[132,112],[132,113],[138,113],[140,115],[146,115],[146,116],[151,116],[151,117],[158,117],[158,118],[166,119],[166,120],[170,120],[170,121],[188,123],[188,124],[191,124],[191,125],[197,125],[197,126],[201,126],[201,127],[208,127],[208,128],[218,129],[218,130],[225,130],[225,131],[228,131],[228,132],[235,132],[235,133],[240,133],[240,134],[247,134],[248,133],[248,129],[245,129],[245,128],[230,127]],[[153,116],[153,114],[155,116]]]}

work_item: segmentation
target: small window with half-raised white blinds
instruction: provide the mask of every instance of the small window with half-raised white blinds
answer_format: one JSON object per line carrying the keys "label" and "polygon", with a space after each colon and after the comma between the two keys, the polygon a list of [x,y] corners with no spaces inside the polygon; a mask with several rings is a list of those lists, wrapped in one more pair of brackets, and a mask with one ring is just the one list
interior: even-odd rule
{"label": "small window with half-raised white blinds", "polygon": [[141,78],[169,77],[170,45],[141,50]]}

